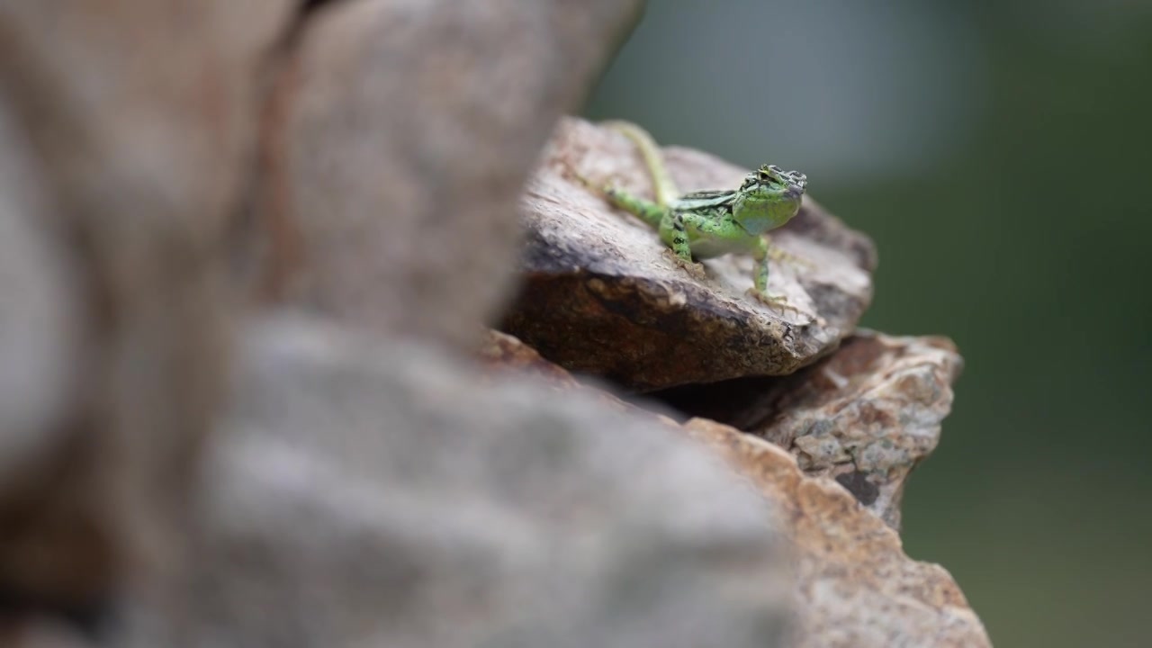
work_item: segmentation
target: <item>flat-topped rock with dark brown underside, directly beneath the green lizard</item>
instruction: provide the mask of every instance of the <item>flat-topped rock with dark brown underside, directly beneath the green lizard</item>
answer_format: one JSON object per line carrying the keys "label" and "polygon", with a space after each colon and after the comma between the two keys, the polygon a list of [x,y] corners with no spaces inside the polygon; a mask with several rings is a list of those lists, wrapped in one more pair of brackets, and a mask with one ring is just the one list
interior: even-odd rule
{"label": "flat-topped rock with dark brown underside, directly beneath the green lizard", "polygon": [[[687,149],[666,157],[685,191],[734,187],[746,173]],[[577,119],[561,123],[529,183],[526,285],[500,327],[573,371],[637,391],[789,374],[834,349],[871,300],[871,242],[814,201],[805,197],[773,233],[780,248],[813,264],[773,268],[771,289],[806,312],[797,315],[745,295],[750,257],[705,261],[703,281],[684,272],[654,231],[608,206],[573,171],[651,195],[631,143]]]}

